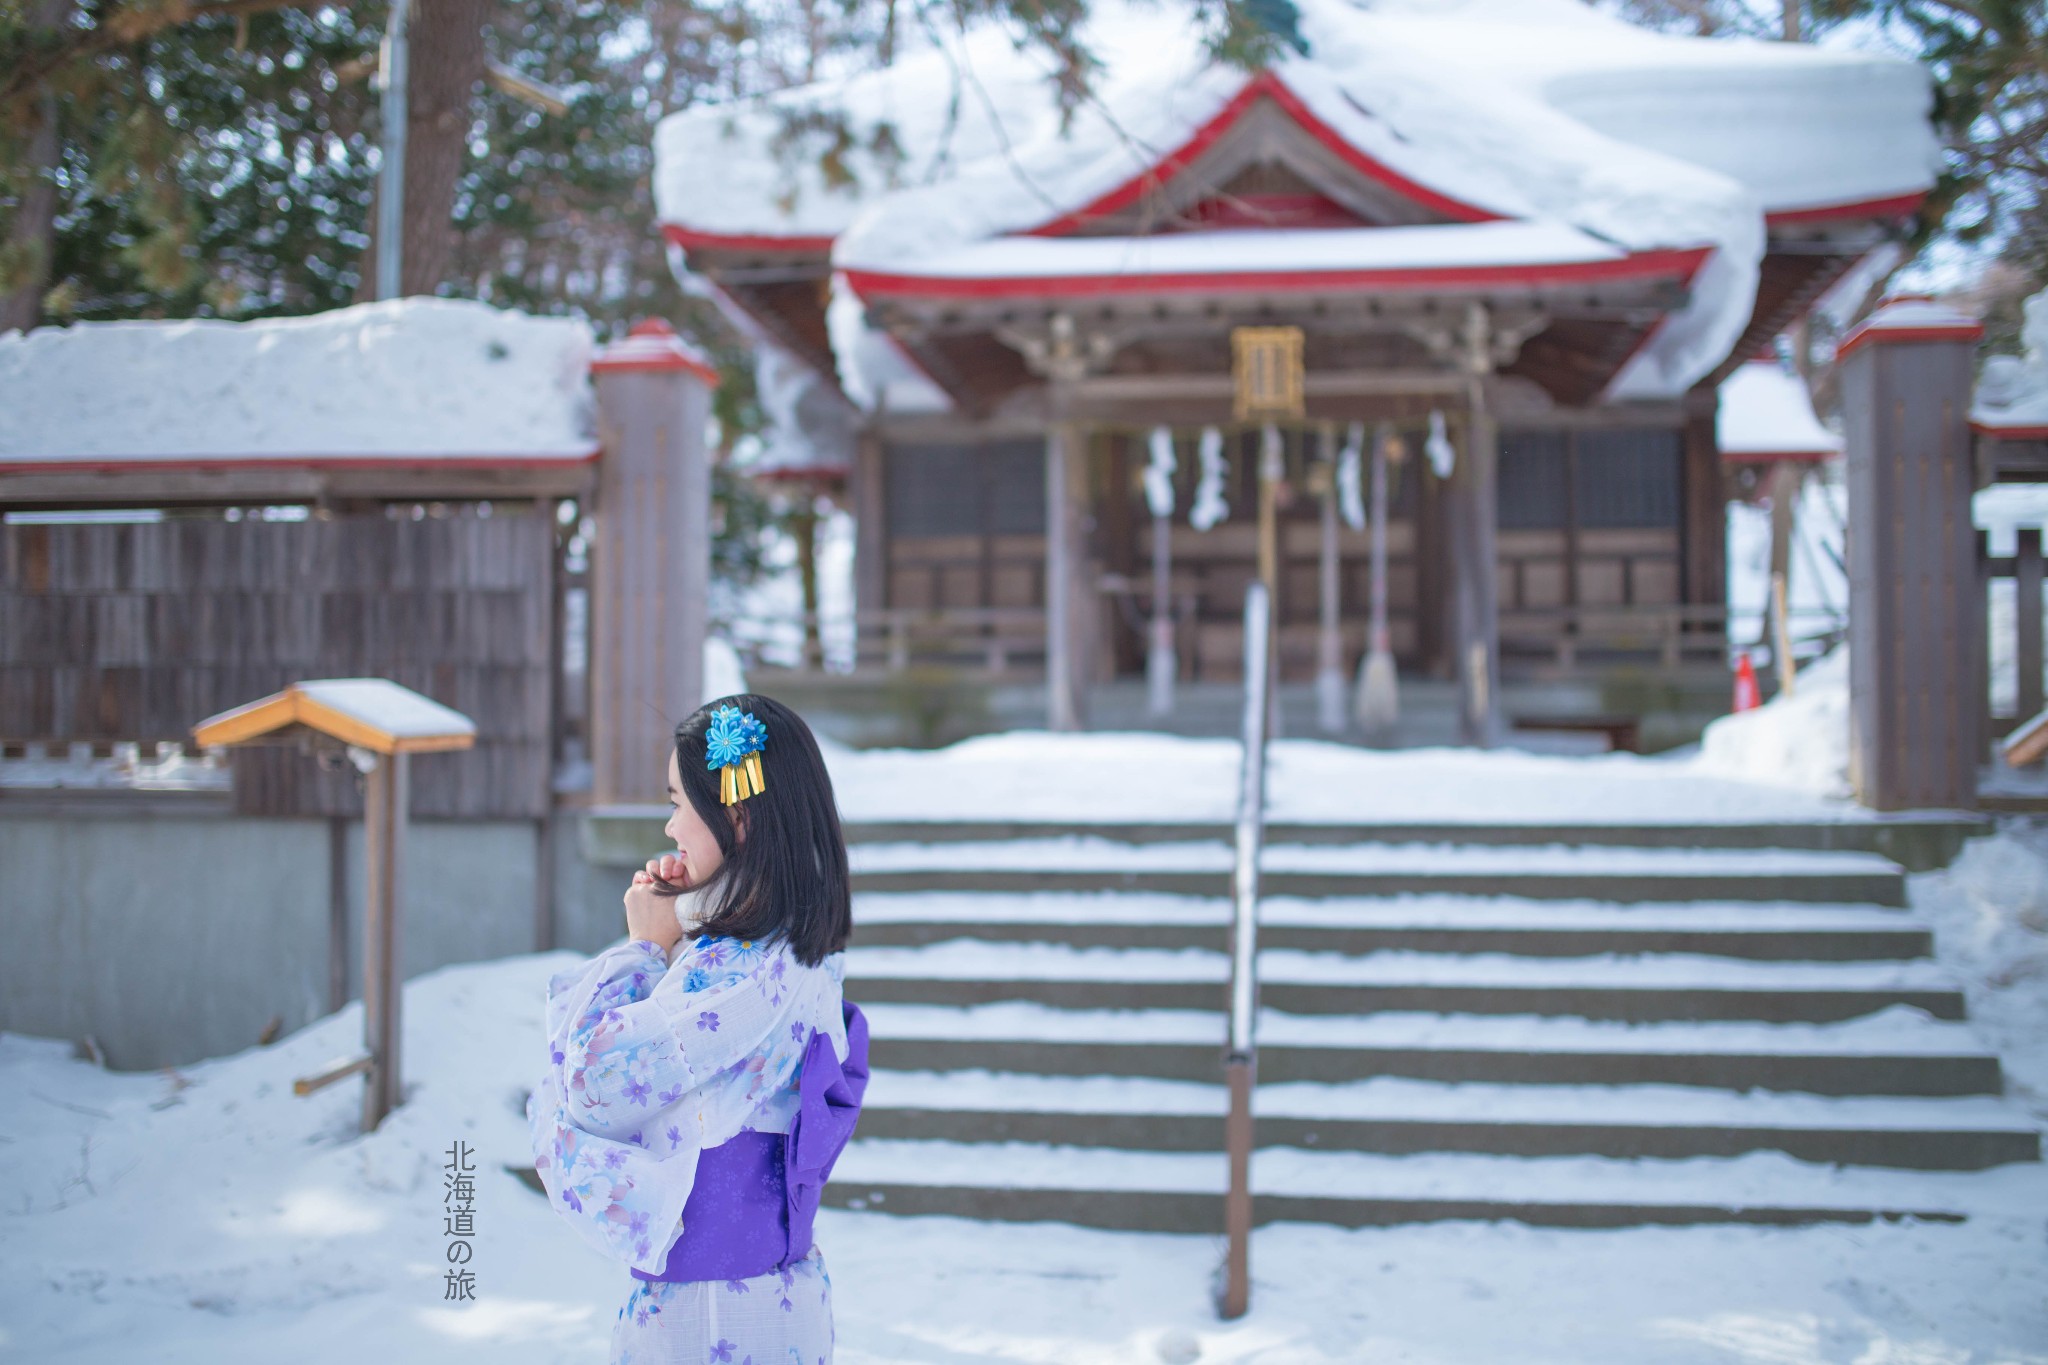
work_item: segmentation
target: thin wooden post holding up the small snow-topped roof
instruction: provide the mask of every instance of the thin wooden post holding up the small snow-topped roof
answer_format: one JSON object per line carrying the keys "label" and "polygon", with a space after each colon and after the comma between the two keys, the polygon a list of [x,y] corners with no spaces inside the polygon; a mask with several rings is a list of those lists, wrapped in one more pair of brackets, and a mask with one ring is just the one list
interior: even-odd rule
{"label": "thin wooden post holding up the small snow-topped roof", "polygon": [[406,1097],[399,1040],[406,972],[399,962],[399,911],[406,862],[406,808],[410,759],[387,753],[362,782],[362,851],[369,882],[362,888],[362,1042],[371,1058],[362,1087],[362,1132],[375,1130]]}

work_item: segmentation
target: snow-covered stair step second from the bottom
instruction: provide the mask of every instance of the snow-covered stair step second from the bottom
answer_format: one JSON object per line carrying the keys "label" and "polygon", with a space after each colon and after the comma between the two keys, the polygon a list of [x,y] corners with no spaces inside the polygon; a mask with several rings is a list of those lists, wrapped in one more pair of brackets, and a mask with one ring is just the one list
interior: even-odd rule
{"label": "snow-covered stair step second from the bottom", "polygon": [[[1214,1152],[1221,1081],[877,1070],[868,1138],[1065,1142]],[[1999,1097],[1821,1097],[1683,1085],[1444,1085],[1376,1076],[1262,1085],[1260,1146],[1511,1156],[1733,1156],[1974,1171],[2040,1158],[2040,1130]]]}

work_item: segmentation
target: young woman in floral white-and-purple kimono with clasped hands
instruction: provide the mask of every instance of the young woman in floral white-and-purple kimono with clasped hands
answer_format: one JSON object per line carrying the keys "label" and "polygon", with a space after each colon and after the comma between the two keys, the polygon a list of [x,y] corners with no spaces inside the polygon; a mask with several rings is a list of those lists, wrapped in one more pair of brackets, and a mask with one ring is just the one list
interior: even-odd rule
{"label": "young woman in floral white-and-purple kimono with clasped hands", "polygon": [[547,984],[535,1166],[633,1269],[612,1365],[821,1365],[811,1220],[868,1081],[831,780],[797,712],[731,696],[676,726],[668,800],[676,851],[633,874],[627,941]]}

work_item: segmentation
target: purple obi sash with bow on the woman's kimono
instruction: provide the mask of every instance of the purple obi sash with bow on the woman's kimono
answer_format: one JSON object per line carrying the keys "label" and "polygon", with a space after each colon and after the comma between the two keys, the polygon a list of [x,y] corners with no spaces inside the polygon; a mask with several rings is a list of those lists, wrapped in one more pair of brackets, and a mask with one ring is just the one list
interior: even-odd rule
{"label": "purple obi sash with bow on the woman's kimono", "polygon": [[868,1091],[868,1021],[852,1001],[840,1001],[840,1013],[846,1062],[811,1029],[788,1132],[750,1130],[705,1148],[682,1205],[682,1236],[659,1275],[633,1271],[635,1279],[752,1279],[809,1254],[817,1201]]}

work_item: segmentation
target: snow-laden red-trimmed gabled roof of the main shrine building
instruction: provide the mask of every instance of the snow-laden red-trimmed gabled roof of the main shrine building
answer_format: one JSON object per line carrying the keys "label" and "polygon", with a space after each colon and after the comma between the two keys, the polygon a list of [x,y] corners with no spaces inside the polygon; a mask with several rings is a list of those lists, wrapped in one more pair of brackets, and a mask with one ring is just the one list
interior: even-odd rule
{"label": "snow-laden red-trimmed gabled roof of the main shrine building", "polygon": [[[829,256],[831,360],[860,403],[903,379],[860,340],[885,299],[1618,278],[1679,301],[1608,397],[1671,397],[1743,334],[1769,235],[1907,217],[1939,164],[1909,61],[1657,35],[1575,0],[1300,0],[1300,31],[1307,55],[1247,76],[1188,14],[1100,0],[1100,90],[1071,125],[997,27],[684,111],[655,139],[664,231],[711,268]],[[793,133],[819,121],[844,123],[850,184]]]}

